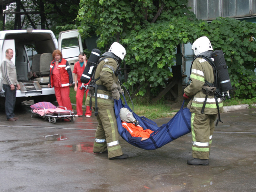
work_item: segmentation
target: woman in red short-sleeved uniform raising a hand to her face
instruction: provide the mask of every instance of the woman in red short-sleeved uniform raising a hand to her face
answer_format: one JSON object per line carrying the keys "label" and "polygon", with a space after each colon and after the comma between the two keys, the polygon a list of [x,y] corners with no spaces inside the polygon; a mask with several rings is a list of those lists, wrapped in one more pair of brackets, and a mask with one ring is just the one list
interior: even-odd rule
{"label": "woman in red short-sleeved uniform raising a hand to her face", "polygon": [[[75,66],[74,66],[74,70],[73,70],[73,73],[75,73],[75,91],[76,91],[76,111],[77,111],[77,114],[75,115],[75,117],[79,117],[79,116],[82,116],[83,115],[83,109],[82,109],[82,105],[83,105],[83,98],[84,98],[84,91],[85,91],[85,88],[83,87],[82,89],[81,86],[82,86],[82,82],[80,80],[83,72],[84,72],[84,68],[86,66],[86,56],[84,53],[80,53],[78,55],[78,61],[75,63]],[[76,83],[78,85],[76,85]],[[89,84],[90,82],[88,82],[87,84]],[[87,85],[87,84],[84,84]],[[85,92],[85,99],[87,97],[87,93],[88,93],[88,89],[86,90]],[[86,112],[85,112],[85,116],[86,117],[91,117],[92,116],[92,111],[90,111],[90,107],[89,106],[86,106]]]}

